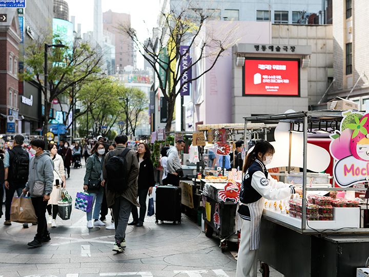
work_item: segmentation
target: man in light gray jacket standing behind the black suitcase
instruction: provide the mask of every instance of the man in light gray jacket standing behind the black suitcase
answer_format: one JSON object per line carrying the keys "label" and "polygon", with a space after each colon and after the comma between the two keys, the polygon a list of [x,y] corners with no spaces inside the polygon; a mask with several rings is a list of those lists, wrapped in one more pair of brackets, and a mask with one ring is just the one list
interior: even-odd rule
{"label": "man in light gray jacket standing behind the black suitcase", "polygon": [[168,174],[163,180],[163,185],[179,186],[179,178],[183,176],[182,166],[179,159],[179,153],[185,148],[185,141],[178,140],[176,146],[171,146],[168,150]]}

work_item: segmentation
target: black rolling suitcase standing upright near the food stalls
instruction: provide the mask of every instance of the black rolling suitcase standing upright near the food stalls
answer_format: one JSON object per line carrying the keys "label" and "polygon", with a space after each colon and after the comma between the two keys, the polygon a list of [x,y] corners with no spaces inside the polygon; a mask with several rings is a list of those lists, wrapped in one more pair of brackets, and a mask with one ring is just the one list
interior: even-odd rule
{"label": "black rolling suitcase standing upright near the food stalls", "polygon": [[156,194],[155,223],[173,221],[181,223],[181,195],[180,187],[158,186]]}

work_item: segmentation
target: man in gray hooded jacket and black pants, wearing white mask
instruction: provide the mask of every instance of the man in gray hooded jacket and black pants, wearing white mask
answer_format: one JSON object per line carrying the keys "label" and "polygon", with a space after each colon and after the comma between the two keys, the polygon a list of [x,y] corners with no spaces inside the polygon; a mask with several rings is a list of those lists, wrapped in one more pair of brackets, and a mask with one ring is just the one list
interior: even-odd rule
{"label": "man in gray hooded jacket and black pants, wearing white mask", "polygon": [[45,152],[43,140],[31,141],[30,152],[34,156],[29,164],[29,176],[23,193],[30,192],[32,205],[37,216],[37,234],[34,240],[28,243],[30,247],[40,247],[43,242],[50,241],[50,233],[47,230],[46,207],[50,199],[54,181],[54,163],[50,154]]}

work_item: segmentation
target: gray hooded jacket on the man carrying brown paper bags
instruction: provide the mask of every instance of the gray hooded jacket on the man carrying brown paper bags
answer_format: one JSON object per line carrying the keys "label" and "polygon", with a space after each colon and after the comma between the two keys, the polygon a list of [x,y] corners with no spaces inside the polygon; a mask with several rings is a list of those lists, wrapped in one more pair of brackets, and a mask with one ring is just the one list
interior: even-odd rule
{"label": "gray hooded jacket on the man carrying brown paper bags", "polygon": [[[51,193],[54,182],[54,163],[51,160],[50,153],[44,151],[39,156],[34,155],[29,164],[28,182],[26,189],[32,191],[33,184],[41,181],[45,184],[45,194]],[[31,197],[34,197],[31,194]]]}

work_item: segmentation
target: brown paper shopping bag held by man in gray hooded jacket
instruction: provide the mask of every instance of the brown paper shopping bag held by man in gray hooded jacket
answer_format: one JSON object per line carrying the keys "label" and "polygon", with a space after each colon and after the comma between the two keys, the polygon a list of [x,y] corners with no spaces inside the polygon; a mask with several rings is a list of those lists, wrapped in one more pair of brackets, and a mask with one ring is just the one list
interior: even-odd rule
{"label": "brown paper shopping bag held by man in gray hooded jacket", "polygon": [[10,221],[18,223],[37,223],[31,197],[13,197],[10,207]]}

